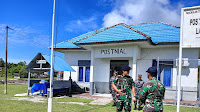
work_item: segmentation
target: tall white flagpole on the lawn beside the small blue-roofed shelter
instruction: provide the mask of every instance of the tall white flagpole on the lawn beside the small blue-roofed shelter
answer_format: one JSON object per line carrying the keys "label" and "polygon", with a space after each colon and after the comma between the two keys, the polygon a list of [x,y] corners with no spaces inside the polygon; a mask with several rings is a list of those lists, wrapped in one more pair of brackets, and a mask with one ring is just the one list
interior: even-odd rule
{"label": "tall white flagpole on the lawn beside the small blue-roofed shelter", "polygon": [[50,73],[50,94],[48,98],[48,111],[47,112],[52,112],[52,81],[53,81],[53,44],[54,44],[54,21],[55,21],[55,3],[56,1],[54,0],[53,4],[53,20],[52,20],[52,42],[51,42],[51,73]]}

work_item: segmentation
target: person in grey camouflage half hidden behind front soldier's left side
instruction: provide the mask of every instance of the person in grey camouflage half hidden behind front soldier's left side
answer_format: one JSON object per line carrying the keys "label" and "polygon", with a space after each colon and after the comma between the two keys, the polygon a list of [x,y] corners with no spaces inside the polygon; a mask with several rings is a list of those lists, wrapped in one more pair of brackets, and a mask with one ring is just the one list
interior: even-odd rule
{"label": "person in grey camouflage half hidden behind front soldier's left side", "polygon": [[112,87],[112,83],[114,82],[114,79],[117,75],[118,75],[118,72],[114,71],[114,75],[110,78],[109,92],[112,94],[112,98],[113,98],[113,105],[112,106],[116,106],[116,101],[117,101],[117,99],[116,99],[117,92]]}

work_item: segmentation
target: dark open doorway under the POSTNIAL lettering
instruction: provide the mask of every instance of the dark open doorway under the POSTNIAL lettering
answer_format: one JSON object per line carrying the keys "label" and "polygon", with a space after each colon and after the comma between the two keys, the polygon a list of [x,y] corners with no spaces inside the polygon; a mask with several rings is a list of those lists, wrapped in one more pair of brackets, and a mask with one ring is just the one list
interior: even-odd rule
{"label": "dark open doorway under the POSTNIAL lettering", "polygon": [[129,65],[129,60],[110,60],[110,78],[113,76],[114,71],[121,75],[122,66],[124,65]]}

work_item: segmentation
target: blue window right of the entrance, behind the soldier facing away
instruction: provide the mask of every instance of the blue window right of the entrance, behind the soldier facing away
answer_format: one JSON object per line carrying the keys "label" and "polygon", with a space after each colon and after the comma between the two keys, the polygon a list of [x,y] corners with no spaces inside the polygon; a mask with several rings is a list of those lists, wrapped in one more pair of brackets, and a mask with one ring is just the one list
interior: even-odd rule
{"label": "blue window right of the entrance, behind the soldier facing away", "polygon": [[[157,61],[152,62],[153,67],[157,67]],[[166,87],[171,87],[173,61],[159,61],[158,80],[160,80]]]}

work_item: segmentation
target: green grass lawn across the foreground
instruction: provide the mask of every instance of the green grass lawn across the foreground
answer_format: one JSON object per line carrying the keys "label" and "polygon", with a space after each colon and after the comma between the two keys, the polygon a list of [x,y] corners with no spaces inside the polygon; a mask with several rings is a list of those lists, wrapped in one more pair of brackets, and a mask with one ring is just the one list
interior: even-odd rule
{"label": "green grass lawn across the foreground", "polygon": [[[4,86],[0,85],[0,112],[46,112],[46,103],[34,103],[30,101],[9,100],[17,93],[25,93],[26,85],[8,85],[8,94],[3,94]],[[107,105],[90,105],[90,99],[63,98],[53,99],[53,112],[115,112],[115,107],[111,107],[112,103]],[[58,102],[83,102],[85,105],[79,104],[60,104]],[[132,107],[133,108],[133,107]],[[176,112],[176,106],[164,106],[164,112]],[[142,112],[134,111],[132,112]],[[199,108],[181,107],[181,112],[200,112]]]}

